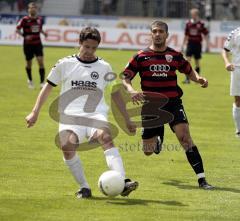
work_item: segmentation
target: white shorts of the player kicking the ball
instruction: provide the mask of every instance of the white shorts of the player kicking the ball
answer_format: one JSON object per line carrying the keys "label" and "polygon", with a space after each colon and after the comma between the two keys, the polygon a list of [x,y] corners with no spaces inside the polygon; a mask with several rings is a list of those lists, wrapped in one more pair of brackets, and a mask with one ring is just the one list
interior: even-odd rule
{"label": "white shorts of the player kicking the ball", "polygon": [[[87,138],[88,140],[91,140],[92,136],[98,129],[108,126],[107,117],[103,114],[89,114],[89,115],[85,116],[85,118],[89,119],[88,126],[77,125],[77,122],[76,122],[76,124],[59,123],[59,132],[64,131],[64,130],[73,131],[78,136],[78,142],[80,144],[80,143],[84,142],[85,138]],[[93,120],[93,121],[90,122],[91,120]],[[102,123],[99,123],[94,120],[101,121]],[[96,123],[94,124],[94,122],[96,122]]]}

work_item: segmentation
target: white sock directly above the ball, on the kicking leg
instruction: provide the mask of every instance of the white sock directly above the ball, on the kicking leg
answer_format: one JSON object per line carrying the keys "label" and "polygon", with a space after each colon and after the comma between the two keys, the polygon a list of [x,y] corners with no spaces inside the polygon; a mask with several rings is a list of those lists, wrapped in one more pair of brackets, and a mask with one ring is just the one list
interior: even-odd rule
{"label": "white sock directly above the ball, on the kicking leg", "polygon": [[125,178],[125,170],[118,149],[112,147],[111,149],[105,150],[104,154],[109,169],[118,171]]}

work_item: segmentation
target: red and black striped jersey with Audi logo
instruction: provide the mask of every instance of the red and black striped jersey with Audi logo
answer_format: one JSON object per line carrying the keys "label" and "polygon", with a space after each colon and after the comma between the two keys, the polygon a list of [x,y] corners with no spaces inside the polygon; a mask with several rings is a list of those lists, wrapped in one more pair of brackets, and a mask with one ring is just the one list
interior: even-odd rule
{"label": "red and black striped jersey with Audi logo", "polygon": [[132,80],[139,73],[143,92],[151,91],[168,98],[179,98],[183,92],[177,84],[177,70],[186,75],[192,72],[191,65],[182,53],[169,47],[163,52],[147,48],[129,61],[124,75]]}

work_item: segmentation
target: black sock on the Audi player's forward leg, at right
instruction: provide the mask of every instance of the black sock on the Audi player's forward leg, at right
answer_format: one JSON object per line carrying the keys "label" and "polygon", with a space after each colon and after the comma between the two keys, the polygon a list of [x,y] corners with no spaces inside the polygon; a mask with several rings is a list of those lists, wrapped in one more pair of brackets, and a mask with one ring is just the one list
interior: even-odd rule
{"label": "black sock on the Audi player's forward leg, at right", "polygon": [[186,151],[187,159],[196,174],[204,173],[201,155],[196,146]]}

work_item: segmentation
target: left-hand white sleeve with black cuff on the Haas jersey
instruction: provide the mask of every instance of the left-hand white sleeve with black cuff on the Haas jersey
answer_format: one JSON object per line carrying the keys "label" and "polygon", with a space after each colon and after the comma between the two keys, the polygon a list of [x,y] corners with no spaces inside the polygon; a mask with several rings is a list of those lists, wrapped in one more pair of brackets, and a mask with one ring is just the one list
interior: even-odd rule
{"label": "left-hand white sleeve with black cuff on the Haas jersey", "polygon": [[47,81],[53,86],[57,86],[62,81],[63,75],[63,60],[59,60],[50,71]]}

